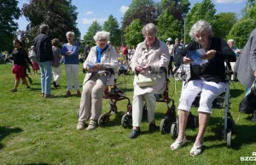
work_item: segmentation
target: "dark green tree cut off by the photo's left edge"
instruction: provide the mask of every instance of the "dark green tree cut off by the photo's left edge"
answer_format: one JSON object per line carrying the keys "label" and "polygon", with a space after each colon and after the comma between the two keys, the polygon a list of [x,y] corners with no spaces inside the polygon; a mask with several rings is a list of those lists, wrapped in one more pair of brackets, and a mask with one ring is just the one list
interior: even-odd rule
{"label": "dark green tree cut off by the photo's left edge", "polygon": [[11,52],[13,40],[15,39],[15,31],[18,24],[14,20],[20,17],[20,9],[16,0],[1,0],[0,5],[0,51],[7,50]]}

